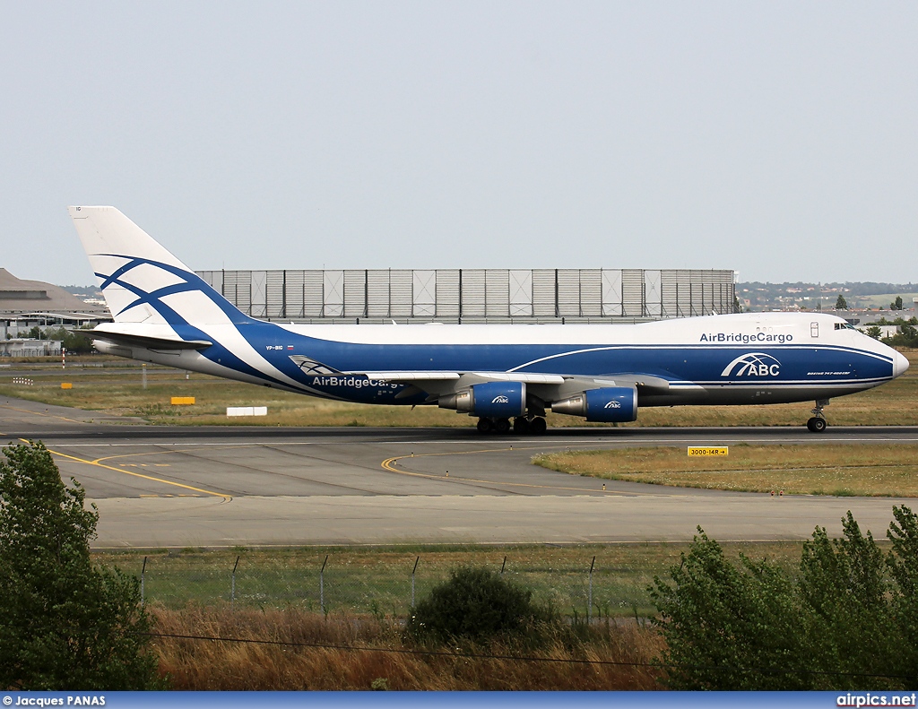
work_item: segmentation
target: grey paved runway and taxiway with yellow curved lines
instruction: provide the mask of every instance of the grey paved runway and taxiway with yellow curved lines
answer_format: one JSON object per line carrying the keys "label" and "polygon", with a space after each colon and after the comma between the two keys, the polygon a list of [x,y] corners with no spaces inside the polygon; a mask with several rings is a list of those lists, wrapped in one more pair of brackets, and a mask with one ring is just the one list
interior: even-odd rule
{"label": "grey paved runway and taxiway with yellow curved lines", "polygon": [[0,441],[41,440],[100,513],[98,547],[645,542],[830,533],[851,510],[882,535],[889,498],[683,490],[555,473],[557,450],[627,445],[918,442],[918,427],[474,429],[150,426],[0,400]]}

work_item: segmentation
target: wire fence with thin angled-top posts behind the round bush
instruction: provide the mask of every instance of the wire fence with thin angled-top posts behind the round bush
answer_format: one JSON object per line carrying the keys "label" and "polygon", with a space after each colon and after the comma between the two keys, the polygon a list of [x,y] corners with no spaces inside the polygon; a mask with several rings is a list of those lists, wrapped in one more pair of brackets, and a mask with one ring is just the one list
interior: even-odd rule
{"label": "wire fence with thin angled-top posts behind the round bush", "polygon": [[[548,564],[517,562],[513,557],[463,563],[494,568],[532,591],[533,601],[565,616],[596,619],[643,613],[651,607],[646,573],[597,564],[596,557]],[[226,603],[405,616],[435,585],[449,578],[456,563],[424,555],[355,562],[334,554],[254,560],[246,555],[170,553],[142,557],[136,569],[121,566],[140,578],[144,602],[168,608]]]}

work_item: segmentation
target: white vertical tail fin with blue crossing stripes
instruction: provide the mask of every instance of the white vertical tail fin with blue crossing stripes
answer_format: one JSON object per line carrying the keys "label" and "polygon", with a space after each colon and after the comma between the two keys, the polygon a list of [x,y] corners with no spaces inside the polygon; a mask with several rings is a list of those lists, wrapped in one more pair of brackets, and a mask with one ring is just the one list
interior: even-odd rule
{"label": "white vertical tail fin with blue crossing stripes", "polygon": [[116,322],[252,321],[118,209],[68,211]]}

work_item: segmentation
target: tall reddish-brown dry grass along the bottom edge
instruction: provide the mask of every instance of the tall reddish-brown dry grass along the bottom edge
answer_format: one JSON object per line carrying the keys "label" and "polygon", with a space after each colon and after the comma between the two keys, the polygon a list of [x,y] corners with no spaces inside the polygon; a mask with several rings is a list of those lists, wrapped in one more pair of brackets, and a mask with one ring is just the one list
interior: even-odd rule
{"label": "tall reddish-brown dry grass along the bottom edge", "polygon": [[[496,644],[465,648],[475,655],[588,659],[611,665],[446,655],[403,639],[393,619],[285,611],[232,611],[189,606],[154,608],[165,635],[233,637],[272,645],[161,637],[153,643],[160,671],[175,690],[644,690],[659,689],[657,672],[641,666],[661,649],[652,629],[602,625],[583,642],[558,638],[545,647]],[[321,647],[324,646],[324,647]],[[360,648],[377,648],[360,649]]]}

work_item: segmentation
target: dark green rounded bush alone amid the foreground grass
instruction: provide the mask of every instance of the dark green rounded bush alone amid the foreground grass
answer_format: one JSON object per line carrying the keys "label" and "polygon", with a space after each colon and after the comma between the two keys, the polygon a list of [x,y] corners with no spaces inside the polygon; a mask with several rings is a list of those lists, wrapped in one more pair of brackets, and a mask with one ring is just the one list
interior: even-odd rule
{"label": "dark green rounded bush alone amid the foreground grass", "polygon": [[549,620],[551,613],[532,602],[532,591],[489,568],[461,567],[418,603],[408,631],[418,639],[481,642],[520,636]]}

